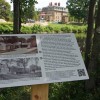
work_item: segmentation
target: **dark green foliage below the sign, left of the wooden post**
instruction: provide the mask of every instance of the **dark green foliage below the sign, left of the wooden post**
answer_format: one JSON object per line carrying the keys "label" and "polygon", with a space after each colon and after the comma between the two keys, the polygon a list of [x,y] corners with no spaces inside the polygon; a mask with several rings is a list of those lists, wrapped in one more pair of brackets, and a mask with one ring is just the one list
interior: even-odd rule
{"label": "dark green foliage below the sign, left of the wooden post", "polygon": [[5,88],[0,92],[0,100],[30,100],[29,86]]}

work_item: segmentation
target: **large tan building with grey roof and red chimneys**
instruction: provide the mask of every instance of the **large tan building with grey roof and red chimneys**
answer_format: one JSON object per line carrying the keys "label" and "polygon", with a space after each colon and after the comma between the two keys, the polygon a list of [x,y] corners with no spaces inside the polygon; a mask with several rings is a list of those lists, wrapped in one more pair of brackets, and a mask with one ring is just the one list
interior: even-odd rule
{"label": "large tan building with grey roof and red chimneys", "polygon": [[43,7],[40,12],[40,20],[49,22],[68,22],[68,9],[61,7],[60,3],[49,3],[49,6]]}

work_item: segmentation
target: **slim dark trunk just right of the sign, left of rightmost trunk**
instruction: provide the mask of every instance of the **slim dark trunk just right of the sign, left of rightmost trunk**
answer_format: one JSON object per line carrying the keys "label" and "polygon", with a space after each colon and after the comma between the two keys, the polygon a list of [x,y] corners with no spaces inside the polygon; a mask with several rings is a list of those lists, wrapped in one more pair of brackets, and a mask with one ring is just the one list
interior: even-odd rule
{"label": "slim dark trunk just right of the sign, left of rightmost trunk", "polygon": [[89,66],[90,53],[91,53],[95,4],[96,4],[96,0],[90,0],[89,14],[88,14],[87,38],[86,38],[86,51],[85,51],[85,65],[86,65],[87,69],[88,69],[88,66]]}

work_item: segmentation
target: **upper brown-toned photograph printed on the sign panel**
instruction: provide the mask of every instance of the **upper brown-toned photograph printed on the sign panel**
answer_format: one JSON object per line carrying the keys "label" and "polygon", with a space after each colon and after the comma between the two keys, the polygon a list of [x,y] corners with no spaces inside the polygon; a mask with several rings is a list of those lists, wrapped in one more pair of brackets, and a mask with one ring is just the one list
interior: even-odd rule
{"label": "upper brown-toned photograph printed on the sign panel", "polygon": [[0,36],[0,55],[36,54],[37,52],[35,35]]}

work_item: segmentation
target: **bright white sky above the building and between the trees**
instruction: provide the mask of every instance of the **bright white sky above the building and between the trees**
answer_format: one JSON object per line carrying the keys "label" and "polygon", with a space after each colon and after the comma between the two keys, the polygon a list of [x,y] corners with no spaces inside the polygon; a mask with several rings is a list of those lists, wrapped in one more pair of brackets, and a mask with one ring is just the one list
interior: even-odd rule
{"label": "bright white sky above the building and between the trees", "polygon": [[[11,10],[12,10],[13,4],[10,2],[11,0],[6,0],[6,1],[11,4]],[[50,2],[52,2],[52,3],[60,2],[62,7],[66,7],[66,1],[67,0],[37,0],[38,4],[36,4],[35,7],[37,9],[42,8],[42,7],[46,7],[49,5]]]}

